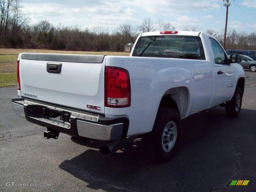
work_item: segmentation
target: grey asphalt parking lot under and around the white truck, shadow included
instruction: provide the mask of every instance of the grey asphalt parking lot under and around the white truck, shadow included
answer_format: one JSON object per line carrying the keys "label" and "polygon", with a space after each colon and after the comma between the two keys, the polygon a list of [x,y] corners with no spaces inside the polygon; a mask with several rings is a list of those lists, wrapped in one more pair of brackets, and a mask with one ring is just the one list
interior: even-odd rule
{"label": "grey asphalt parking lot under and around the white truck, shadow included", "polygon": [[[108,157],[99,154],[101,142],[62,133],[47,140],[44,127],[14,114],[16,94],[15,87],[0,89],[0,191],[256,191],[255,72],[246,71],[238,118],[216,107],[184,119],[179,150],[160,165],[145,158],[136,138]],[[249,183],[230,186],[232,180]]]}

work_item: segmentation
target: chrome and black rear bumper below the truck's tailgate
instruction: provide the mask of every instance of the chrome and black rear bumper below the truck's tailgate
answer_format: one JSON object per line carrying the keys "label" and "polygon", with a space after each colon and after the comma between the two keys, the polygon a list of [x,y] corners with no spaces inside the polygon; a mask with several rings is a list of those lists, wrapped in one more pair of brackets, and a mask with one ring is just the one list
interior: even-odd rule
{"label": "chrome and black rear bumper below the truck's tailgate", "polygon": [[[63,106],[39,102],[30,99],[12,98],[15,114],[28,121],[45,126],[50,130],[76,137],[96,140],[118,140],[125,138],[128,131],[128,118],[106,118],[103,115],[74,110]],[[48,111],[62,113],[63,121],[49,118]]]}

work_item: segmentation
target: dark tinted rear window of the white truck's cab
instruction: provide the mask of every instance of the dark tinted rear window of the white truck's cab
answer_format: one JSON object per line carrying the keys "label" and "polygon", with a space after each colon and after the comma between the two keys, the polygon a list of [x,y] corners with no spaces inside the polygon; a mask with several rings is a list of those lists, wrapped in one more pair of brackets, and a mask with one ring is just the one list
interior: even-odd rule
{"label": "dark tinted rear window of the white truck's cab", "polygon": [[132,56],[205,60],[201,38],[196,36],[161,35],[140,37]]}

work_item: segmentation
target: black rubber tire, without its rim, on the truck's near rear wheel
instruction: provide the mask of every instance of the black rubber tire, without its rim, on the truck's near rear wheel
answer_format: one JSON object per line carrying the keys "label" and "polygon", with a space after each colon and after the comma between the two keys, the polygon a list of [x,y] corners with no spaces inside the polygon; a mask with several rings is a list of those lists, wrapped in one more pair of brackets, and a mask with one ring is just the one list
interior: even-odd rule
{"label": "black rubber tire, without its rim, on the truck's near rear wheel", "polygon": [[[176,141],[173,140],[170,151],[165,152],[162,147],[162,136],[165,126],[168,122],[175,122],[176,124]],[[174,125],[174,124],[172,124]],[[172,126],[171,125],[171,126]],[[171,134],[172,135],[172,134]],[[178,148],[181,136],[181,120],[179,113],[170,108],[160,108],[157,112],[153,130],[143,136],[143,144],[148,157],[155,163],[165,163],[170,161]],[[175,136],[172,136],[175,138]],[[171,136],[170,136],[171,138]],[[166,144],[167,145],[167,144]]]}

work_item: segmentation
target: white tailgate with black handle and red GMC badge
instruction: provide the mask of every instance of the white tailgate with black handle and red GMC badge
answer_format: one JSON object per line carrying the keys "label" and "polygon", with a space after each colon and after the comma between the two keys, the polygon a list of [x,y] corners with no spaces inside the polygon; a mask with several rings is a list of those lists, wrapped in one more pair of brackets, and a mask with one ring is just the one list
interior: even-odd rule
{"label": "white tailgate with black handle and red GMC badge", "polygon": [[[104,58],[22,53],[19,55],[21,96],[104,113]],[[54,72],[57,65],[59,73]]]}

